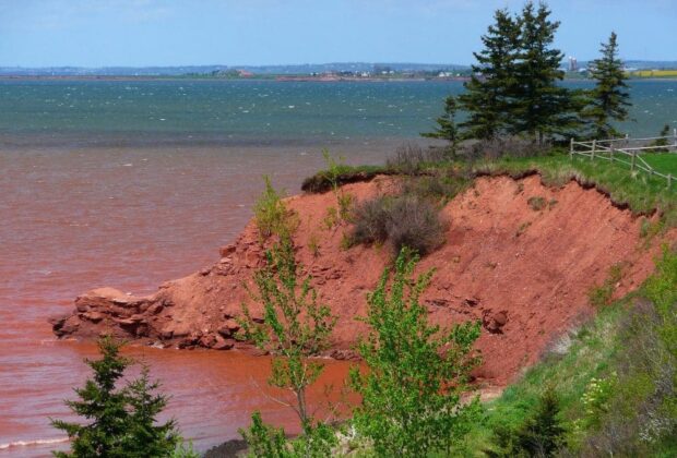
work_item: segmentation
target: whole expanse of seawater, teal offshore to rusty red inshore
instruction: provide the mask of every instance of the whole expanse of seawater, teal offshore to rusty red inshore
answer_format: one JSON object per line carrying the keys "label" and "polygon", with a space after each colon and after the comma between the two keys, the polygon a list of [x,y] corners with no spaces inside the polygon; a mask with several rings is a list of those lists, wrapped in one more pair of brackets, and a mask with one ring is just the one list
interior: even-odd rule
{"label": "whole expanse of seawater, teal offshore to rusty red inshore", "polygon": [[[580,85],[580,83],[579,83]],[[49,418],[88,375],[91,343],[47,318],[111,286],[136,294],[218,260],[271,174],[288,193],[323,166],[382,161],[430,128],[460,83],[0,81],[0,457],[63,447]],[[632,83],[632,135],[677,126],[677,82]],[[204,450],[249,413],[294,429],[236,352],[132,348],[171,395],[167,415]],[[346,363],[326,381],[340,386]],[[319,394],[318,394],[319,396]]]}

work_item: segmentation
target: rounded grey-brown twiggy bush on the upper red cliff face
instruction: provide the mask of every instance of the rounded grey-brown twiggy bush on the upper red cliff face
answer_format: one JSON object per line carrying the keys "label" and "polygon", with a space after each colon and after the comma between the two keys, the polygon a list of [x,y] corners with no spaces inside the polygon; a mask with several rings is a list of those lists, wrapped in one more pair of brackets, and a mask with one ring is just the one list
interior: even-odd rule
{"label": "rounded grey-brown twiggy bush on the upper red cliff face", "polygon": [[393,254],[404,246],[425,256],[444,241],[439,208],[417,195],[379,196],[358,204],[352,217],[353,243],[390,242]]}

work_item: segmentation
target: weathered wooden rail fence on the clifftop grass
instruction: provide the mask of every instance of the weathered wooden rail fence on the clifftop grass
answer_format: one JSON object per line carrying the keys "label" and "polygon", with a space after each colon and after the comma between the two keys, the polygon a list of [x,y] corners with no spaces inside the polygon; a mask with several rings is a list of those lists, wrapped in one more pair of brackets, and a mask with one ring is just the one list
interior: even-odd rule
{"label": "weathered wooden rail fence on the clifftop grass", "polygon": [[[662,141],[662,142],[660,142]],[[656,146],[655,143],[664,143]],[[591,160],[602,159],[608,161],[617,161],[630,166],[630,170],[643,171],[650,176],[661,177],[667,180],[667,186],[673,185],[673,181],[677,179],[672,173],[662,173],[654,169],[644,158],[642,153],[660,152],[677,155],[677,129],[673,131],[672,136],[654,136],[648,138],[609,138],[593,140],[591,142],[575,142],[571,138],[571,148],[569,155],[590,157]]]}

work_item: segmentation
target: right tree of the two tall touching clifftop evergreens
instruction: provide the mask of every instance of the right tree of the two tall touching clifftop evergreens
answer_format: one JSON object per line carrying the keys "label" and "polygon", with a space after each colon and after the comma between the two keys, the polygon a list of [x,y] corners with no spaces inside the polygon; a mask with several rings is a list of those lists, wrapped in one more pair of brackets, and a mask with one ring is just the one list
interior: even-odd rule
{"label": "right tree of the two tall touching clifftop evergreens", "polygon": [[514,104],[510,107],[510,132],[527,134],[539,144],[555,134],[575,126],[574,105],[570,92],[557,83],[565,76],[560,70],[563,53],[553,48],[559,22],[549,20],[545,3],[536,9],[527,2],[519,19],[520,45],[515,77]]}

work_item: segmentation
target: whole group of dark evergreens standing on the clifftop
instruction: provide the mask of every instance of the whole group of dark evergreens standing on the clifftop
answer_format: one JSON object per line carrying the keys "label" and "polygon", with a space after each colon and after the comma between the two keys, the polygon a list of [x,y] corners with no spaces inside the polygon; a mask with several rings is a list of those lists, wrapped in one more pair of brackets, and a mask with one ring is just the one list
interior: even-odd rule
{"label": "whole group of dark evergreens standing on the clifftop", "polygon": [[[602,45],[591,63],[593,89],[570,89],[559,84],[563,53],[553,45],[560,23],[550,20],[547,4],[527,2],[520,14],[498,10],[475,52],[471,80],[459,97],[449,96],[437,129],[424,136],[496,140],[521,136],[538,144],[569,137],[611,137],[615,121],[628,119],[629,93],[617,36]],[[459,125],[456,110],[467,117]]]}

